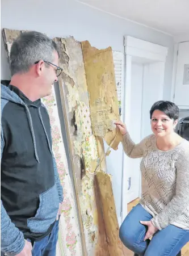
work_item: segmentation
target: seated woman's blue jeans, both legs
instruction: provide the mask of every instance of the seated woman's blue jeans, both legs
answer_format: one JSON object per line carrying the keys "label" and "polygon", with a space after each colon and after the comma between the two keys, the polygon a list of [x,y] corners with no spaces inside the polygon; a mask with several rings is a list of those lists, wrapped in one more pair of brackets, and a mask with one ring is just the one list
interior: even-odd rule
{"label": "seated woman's blue jeans, both legs", "polygon": [[135,256],[176,256],[181,255],[180,250],[189,241],[189,230],[169,225],[165,229],[156,232],[152,240],[146,240],[146,226],[140,221],[152,219],[146,210],[136,205],[127,215],[120,227],[120,239],[123,244],[135,253]]}

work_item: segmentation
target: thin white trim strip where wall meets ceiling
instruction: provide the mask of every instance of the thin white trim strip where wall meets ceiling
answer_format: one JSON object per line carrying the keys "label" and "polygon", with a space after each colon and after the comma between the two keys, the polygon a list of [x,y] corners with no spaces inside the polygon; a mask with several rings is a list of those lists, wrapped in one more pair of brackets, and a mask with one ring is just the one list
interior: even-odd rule
{"label": "thin white trim strip where wall meets ceiling", "polygon": [[115,16],[115,17],[119,18],[119,19],[124,19],[124,20],[127,20],[128,22],[135,23],[135,24],[140,25],[140,26],[142,26],[142,27],[150,28],[151,30],[155,30],[155,31],[157,31],[157,32],[164,33],[165,35],[173,36],[172,34],[167,33],[167,32],[165,32],[165,31],[162,31],[162,30],[158,30],[157,28],[150,27],[150,26],[145,25],[145,24],[142,24],[142,23],[140,23],[140,22],[135,22],[135,20],[131,20],[131,19],[127,19],[127,18],[121,17],[121,16],[116,15],[116,14],[113,14],[112,12],[109,12],[109,11],[104,11],[104,10],[98,8],[98,7],[95,7],[95,6],[93,6],[93,5],[89,5],[89,3],[85,3],[85,2],[82,2],[82,1],[79,1],[79,0],[74,0],[74,1],[75,1],[75,2],[78,2],[78,3],[82,3],[82,5],[89,6],[89,7],[93,8],[93,9],[98,10],[98,11],[102,11],[102,12],[104,12],[104,13],[106,13],[106,14],[110,14],[110,15],[112,15],[112,16]]}

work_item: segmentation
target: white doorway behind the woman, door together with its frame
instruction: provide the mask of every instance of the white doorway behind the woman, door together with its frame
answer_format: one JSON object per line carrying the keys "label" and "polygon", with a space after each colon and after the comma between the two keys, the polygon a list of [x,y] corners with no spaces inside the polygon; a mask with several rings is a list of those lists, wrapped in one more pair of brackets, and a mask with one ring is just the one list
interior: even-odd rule
{"label": "white doorway behind the woman, door together with its frame", "polygon": [[[125,36],[124,122],[132,140],[137,143],[149,135],[149,110],[163,98],[163,81],[167,48],[148,41]],[[129,181],[129,178],[130,181]],[[139,184],[139,185],[138,185]],[[130,188],[129,188],[130,187]],[[129,190],[128,190],[129,188]],[[123,221],[127,204],[141,195],[140,160],[123,156]]]}

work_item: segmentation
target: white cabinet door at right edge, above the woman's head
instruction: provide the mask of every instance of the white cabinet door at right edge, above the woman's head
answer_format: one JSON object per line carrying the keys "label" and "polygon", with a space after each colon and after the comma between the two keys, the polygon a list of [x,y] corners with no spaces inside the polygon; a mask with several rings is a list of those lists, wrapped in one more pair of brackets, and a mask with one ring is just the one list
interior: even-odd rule
{"label": "white cabinet door at right edge, above the woman's head", "polygon": [[178,45],[174,102],[189,108],[189,41]]}

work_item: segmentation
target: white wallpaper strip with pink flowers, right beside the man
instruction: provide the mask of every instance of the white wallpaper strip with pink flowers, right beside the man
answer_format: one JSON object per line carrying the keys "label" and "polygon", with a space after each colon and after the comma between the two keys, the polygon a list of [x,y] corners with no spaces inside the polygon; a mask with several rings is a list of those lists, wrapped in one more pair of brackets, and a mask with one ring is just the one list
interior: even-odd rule
{"label": "white wallpaper strip with pink flowers, right beside the man", "polygon": [[43,103],[49,112],[52,127],[53,153],[56,158],[57,169],[64,192],[56,256],[82,256],[82,244],[79,236],[79,222],[74,201],[74,190],[68,171],[68,162],[62,140],[54,90],[51,96],[43,99]]}

